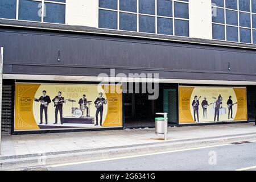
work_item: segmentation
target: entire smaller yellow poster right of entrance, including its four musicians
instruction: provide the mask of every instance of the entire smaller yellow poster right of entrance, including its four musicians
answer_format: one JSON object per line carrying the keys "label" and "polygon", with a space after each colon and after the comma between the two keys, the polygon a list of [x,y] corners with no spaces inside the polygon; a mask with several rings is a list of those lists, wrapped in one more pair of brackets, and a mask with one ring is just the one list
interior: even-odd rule
{"label": "entire smaller yellow poster right of entrance, including its four musicians", "polygon": [[179,86],[179,123],[247,121],[245,87]]}

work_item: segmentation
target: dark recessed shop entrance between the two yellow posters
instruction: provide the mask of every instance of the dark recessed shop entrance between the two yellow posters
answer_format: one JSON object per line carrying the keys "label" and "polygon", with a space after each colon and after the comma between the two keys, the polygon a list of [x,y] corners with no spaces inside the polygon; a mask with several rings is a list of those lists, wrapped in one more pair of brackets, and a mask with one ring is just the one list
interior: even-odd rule
{"label": "dark recessed shop entrance between the two yellow posters", "polygon": [[160,84],[157,100],[148,94],[123,94],[125,128],[155,127],[155,113],[168,113],[168,125],[177,125],[177,88],[175,84]]}

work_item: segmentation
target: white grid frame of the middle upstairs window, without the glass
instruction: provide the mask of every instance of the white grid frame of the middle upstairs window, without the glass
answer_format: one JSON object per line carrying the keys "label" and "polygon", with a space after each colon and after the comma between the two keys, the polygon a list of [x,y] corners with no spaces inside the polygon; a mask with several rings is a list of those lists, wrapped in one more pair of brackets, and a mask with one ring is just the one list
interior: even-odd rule
{"label": "white grid frame of the middle upstairs window, without the glass", "polygon": [[[100,0],[97,0],[98,3],[100,2]],[[180,0],[170,0],[172,1],[172,16],[162,16],[162,15],[158,15],[158,0],[155,0],[155,15],[151,15],[151,14],[143,14],[143,13],[139,13],[139,0],[137,0],[137,12],[132,12],[132,11],[123,11],[120,10],[120,3],[119,0],[117,0],[117,10],[113,10],[113,9],[107,9],[107,8],[103,8],[98,6],[98,13],[100,10],[108,10],[108,11],[115,11],[117,12],[117,29],[109,29],[109,28],[101,28],[99,27],[99,23],[97,23],[97,28],[103,29],[103,30],[116,30],[116,31],[127,31],[127,32],[139,32],[139,33],[143,33],[143,34],[154,34],[154,35],[165,35],[165,36],[179,36],[179,35],[175,35],[175,19],[179,19],[179,20],[185,20],[188,22],[189,24],[189,0],[188,1],[180,1]],[[186,3],[188,4],[188,19],[186,18],[177,18],[175,17],[175,7],[174,4],[175,2],[180,2],[180,3]],[[137,31],[129,31],[129,30],[120,30],[120,13],[128,13],[128,14],[135,14],[137,15]],[[155,33],[149,33],[149,32],[140,32],[139,31],[139,16],[153,16],[155,18]],[[158,18],[167,18],[167,19],[172,19],[172,35],[167,35],[167,34],[158,34]],[[97,20],[99,22],[99,18]],[[188,27],[188,36],[179,36],[179,37],[189,37],[189,30],[190,28]]]}

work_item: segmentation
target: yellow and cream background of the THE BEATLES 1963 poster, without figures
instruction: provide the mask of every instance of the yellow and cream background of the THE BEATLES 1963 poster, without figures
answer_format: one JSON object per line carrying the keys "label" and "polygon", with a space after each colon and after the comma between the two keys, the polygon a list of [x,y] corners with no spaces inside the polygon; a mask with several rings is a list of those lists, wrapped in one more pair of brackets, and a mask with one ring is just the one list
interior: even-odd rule
{"label": "yellow and cream background of the THE BEATLES 1963 poster, without figures", "polygon": [[[121,85],[107,85],[110,89],[120,88]],[[47,96],[51,101],[57,92],[62,92],[64,99],[75,100],[76,102],[66,102],[63,104],[63,117],[72,117],[72,107],[79,107],[79,99],[86,94],[88,101],[92,101],[90,105],[90,116],[94,117],[96,107],[94,101],[98,97],[98,93],[102,92],[108,103],[104,105],[102,127],[121,127],[122,126],[122,92],[105,93],[104,86],[98,85],[81,85],[81,84],[15,84],[15,130],[40,130],[40,102],[35,102],[34,98],[42,96],[43,90],[47,91]],[[98,116],[100,121],[100,115]],[[43,122],[45,122],[43,113]],[[48,125],[51,126],[55,122],[55,107],[53,102],[48,106]],[[58,114],[58,122],[60,115]],[[63,128],[68,125],[64,125]],[[93,125],[84,125],[80,127],[94,127]],[[55,129],[56,130],[56,129]]]}

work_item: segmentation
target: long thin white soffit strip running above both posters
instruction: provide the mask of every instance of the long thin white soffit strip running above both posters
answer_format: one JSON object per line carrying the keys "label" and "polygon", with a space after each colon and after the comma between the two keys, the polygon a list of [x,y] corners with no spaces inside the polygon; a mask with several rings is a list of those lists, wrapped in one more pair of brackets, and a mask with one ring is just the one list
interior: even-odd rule
{"label": "long thin white soffit strip running above both posters", "polygon": [[[154,82],[154,78],[121,78],[121,77],[96,77],[96,76],[56,76],[56,75],[13,75],[3,74],[3,79],[13,80],[42,80],[42,81],[113,81],[113,82]],[[256,85],[256,81],[233,80],[183,80],[160,78],[160,83],[179,84],[212,84],[212,85]]]}

